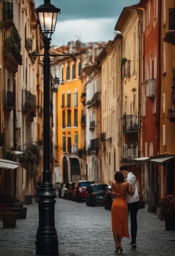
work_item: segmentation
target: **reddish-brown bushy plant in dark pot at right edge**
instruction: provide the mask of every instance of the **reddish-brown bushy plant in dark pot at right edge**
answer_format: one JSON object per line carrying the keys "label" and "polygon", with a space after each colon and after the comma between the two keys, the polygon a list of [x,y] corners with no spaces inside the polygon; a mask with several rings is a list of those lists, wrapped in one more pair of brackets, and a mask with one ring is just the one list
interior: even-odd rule
{"label": "reddish-brown bushy plant in dark pot at right edge", "polygon": [[161,197],[159,207],[165,218],[166,230],[175,230],[175,195]]}

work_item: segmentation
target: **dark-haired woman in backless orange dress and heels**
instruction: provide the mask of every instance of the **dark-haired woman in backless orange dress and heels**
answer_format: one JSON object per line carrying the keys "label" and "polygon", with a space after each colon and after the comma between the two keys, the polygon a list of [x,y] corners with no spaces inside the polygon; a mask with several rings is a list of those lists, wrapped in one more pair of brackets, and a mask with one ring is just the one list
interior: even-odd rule
{"label": "dark-haired woman in backless orange dress and heels", "polygon": [[126,203],[126,195],[133,194],[131,184],[125,182],[124,175],[121,171],[117,171],[114,175],[116,182],[112,183],[112,192],[119,193],[119,197],[114,198],[111,208],[112,230],[116,245],[116,252],[123,252],[121,239],[130,238],[128,232],[128,206]]}

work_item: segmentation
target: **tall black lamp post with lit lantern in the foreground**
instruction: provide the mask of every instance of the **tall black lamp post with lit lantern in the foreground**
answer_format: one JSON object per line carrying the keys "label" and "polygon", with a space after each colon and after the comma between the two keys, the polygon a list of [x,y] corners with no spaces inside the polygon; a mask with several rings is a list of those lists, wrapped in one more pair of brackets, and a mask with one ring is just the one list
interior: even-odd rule
{"label": "tall black lamp post with lit lantern in the foreground", "polygon": [[44,35],[44,163],[42,172],[41,192],[39,193],[39,225],[36,236],[37,255],[59,255],[58,237],[55,229],[55,192],[51,181],[50,170],[50,58],[49,48],[51,35],[55,31],[55,25],[60,9],[51,4],[50,0],[44,0],[39,6],[37,14],[40,29]]}

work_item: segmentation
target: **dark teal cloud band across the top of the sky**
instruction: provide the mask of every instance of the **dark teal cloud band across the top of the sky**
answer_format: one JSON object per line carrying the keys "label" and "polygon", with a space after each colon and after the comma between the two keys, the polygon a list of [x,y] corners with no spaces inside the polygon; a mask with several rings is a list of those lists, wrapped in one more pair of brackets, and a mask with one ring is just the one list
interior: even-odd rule
{"label": "dark teal cloud band across the top of the sky", "polygon": [[[37,7],[44,0],[35,2]],[[138,2],[139,0],[51,0],[52,4],[61,8],[59,21],[119,17],[125,6]]]}

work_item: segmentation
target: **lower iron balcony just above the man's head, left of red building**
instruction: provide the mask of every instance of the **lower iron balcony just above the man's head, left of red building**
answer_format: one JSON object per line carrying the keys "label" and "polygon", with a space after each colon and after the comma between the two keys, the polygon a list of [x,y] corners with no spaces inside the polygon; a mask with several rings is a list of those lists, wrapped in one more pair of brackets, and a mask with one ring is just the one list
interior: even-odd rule
{"label": "lower iron balcony just above the man's head, left of red building", "polygon": [[138,147],[135,145],[123,145],[123,163],[135,161],[138,158]]}

